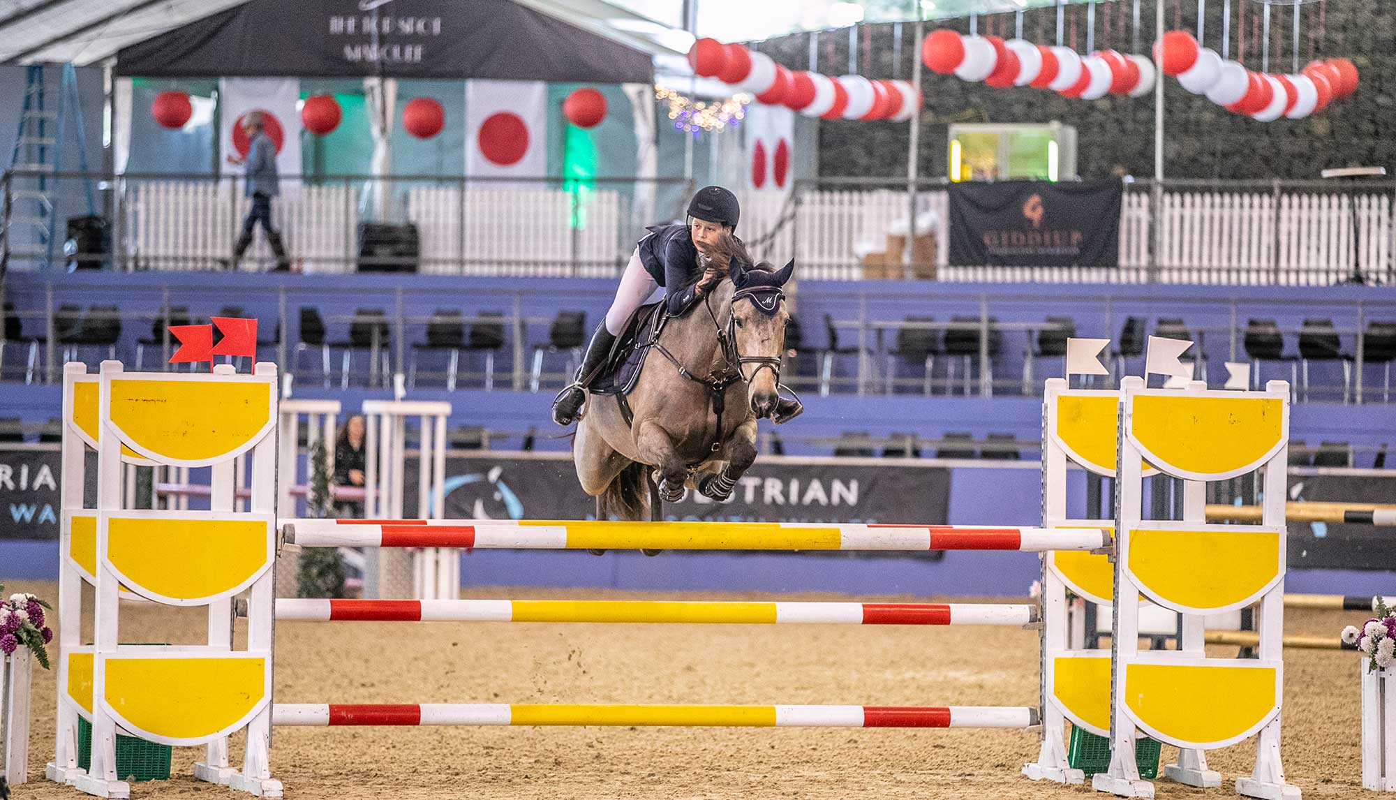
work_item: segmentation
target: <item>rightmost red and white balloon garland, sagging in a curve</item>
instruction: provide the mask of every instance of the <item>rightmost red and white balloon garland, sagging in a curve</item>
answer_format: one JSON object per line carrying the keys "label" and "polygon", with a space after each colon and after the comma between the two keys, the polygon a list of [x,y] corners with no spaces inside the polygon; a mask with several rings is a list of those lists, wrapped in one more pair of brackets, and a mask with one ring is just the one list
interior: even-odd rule
{"label": "rightmost red and white balloon garland, sagging in a curve", "polygon": [[1261,121],[1282,116],[1301,120],[1357,91],[1357,67],[1347,59],[1311,61],[1297,75],[1255,73],[1199,46],[1187,31],[1164,34],[1163,42],[1154,45],[1154,57],[1163,74],[1178,78],[1182,88]]}

